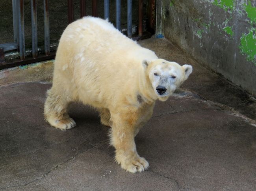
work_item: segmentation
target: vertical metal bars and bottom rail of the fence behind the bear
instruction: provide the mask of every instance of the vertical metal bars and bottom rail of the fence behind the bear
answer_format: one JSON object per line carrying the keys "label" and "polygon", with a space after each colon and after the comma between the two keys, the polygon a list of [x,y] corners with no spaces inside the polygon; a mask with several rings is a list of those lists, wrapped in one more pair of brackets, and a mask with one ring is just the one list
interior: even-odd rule
{"label": "vertical metal bars and bottom rail of the fence behind the bear", "polygon": [[[85,6],[86,0],[80,0],[80,17],[86,16]],[[152,30],[154,27],[154,5],[155,0],[149,0],[149,20],[148,28]],[[121,30],[121,0],[115,0],[115,26]],[[32,45],[30,48],[31,56],[26,56],[25,52],[25,32],[24,32],[24,0],[12,0],[13,7],[13,37],[14,41],[0,44],[0,69],[13,67],[17,65],[30,64],[43,60],[53,59],[55,52],[50,52],[50,22],[49,22],[49,4],[50,0],[43,0],[44,9],[44,52],[38,52],[37,42],[37,0],[30,0],[31,6],[31,31]],[[143,0],[138,1],[138,25],[137,35],[133,35],[132,31],[132,0],[127,0],[127,36],[140,39],[143,36]],[[68,22],[74,21],[74,1],[68,0]],[[97,0],[92,0],[92,16],[98,16]],[[104,18],[109,18],[109,0],[104,0]],[[154,29],[153,29],[154,30]],[[9,51],[18,51],[19,58],[6,60],[5,53]]]}

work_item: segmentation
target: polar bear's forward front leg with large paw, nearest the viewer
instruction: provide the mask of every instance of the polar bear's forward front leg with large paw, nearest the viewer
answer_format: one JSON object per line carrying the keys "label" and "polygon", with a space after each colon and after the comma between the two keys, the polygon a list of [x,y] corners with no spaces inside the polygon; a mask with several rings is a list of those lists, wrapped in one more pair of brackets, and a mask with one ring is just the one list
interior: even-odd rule
{"label": "polar bear's forward front leg with large paw, nearest the viewer", "polygon": [[[126,115],[126,117],[129,115]],[[135,128],[127,118],[120,114],[112,115],[111,144],[116,149],[115,160],[123,169],[130,173],[142,172],[148,168],[145,158],[138,155],[134,142]]]}

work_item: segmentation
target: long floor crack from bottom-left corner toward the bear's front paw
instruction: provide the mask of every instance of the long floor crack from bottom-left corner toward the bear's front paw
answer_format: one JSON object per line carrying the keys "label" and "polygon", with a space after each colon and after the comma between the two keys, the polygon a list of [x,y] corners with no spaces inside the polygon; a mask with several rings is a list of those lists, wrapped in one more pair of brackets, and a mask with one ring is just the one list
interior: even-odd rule
{"label": "long floor crack from bottom-left corner toward the bear's front paw", "polygon": [[[47,173],[45,173],[45,175],[43,175],[42,177],[36,178],[35,180],[32,180],[32,181],[30,181],[30,182],[28,182],[28,183],[25,183],[25,184],[19,184],[19,185],[15,185],[15,186],[2,187],[2,188],[0,188],[0,190],[2,190],[2,189],[7,189],[7,188],[12,188],[12,187],[28,186],[29,184],[31,184],[31,183],[33,183],[33,182],[36,182],[37,180],[41,180],[41,179],[45,178],[50,172],[54,171],[55,169],[58,169],[59,166],[61,166],[61,165],[63,165],[63,164],[66,164],[66,163],[69,162],[70,160],[74,159],[76,156],[78,156],[78,155],[80,155],[80,154],[82,154],[82,153],[85,153],[85,152],[87,152],[87,151],[89,151],[89,150],[91,150],[91,149],[94,149],[94,148],[99,149],[97,146],[99,146],[99,145],[101,145],[101,144],[105,144],[105,143],[107,143],[108,141],[103,140],[103,141],[99,142],[99,143],[96,144],[96,145],[94,145],[94,144],[92,144],[92,143],[90,143],[90,142],[88,142],[88,141],[86,141],[86,140],[85,140],[84,142],[87,142],[87,143],[88,143],[89,145],[91,145],[92,147],[91,147],[91,148],[88,148],[88,149],[86,149],[85,151],[82,151],[82,152],[79,152],[78,149],[76,148],[77,152],[76,152],[76,154],[75,154],[74,156],[72,156],[72,157],[69,158],[68,160],[66,160],[66,161],[64,161],[64,162],[62,162],[62,163],[60,163],[60,164],[57,164],[56,166],[52,167],[52,168],[51,168]],[[83,143],[83,142],[82,142],[82,143]],[[102,150],[102,149],[100,149],[100,150]]]}

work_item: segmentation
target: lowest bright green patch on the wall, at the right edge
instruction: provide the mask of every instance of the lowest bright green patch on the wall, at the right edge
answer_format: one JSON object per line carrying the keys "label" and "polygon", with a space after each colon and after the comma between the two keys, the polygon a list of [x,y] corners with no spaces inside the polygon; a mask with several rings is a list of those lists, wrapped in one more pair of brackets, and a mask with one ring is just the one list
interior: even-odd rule
{"label": "lowest bright green patch on the wall, at the right edge", "polygon": [[240,50],[243,55],[246,55],[246,60],[251,61],[256,65],[256,29],[252,28],[250,33],[243,34],[240,38]]}

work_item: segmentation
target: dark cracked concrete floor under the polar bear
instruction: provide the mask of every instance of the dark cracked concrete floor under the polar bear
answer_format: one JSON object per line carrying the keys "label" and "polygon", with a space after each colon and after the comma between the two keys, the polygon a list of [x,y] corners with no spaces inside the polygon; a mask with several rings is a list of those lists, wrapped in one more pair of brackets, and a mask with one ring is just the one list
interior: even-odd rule
{"label": "dark cracked concrete floor under the polar bear", "polygon": [[194,69],[135,138],[149,169],[130,174],[114,162],[109,129],[87,106],[70,107],[69,131],[43,120],[47,62],[0,71],[1,190],[255,190],[255,99],[165,39],[139,43]]}

